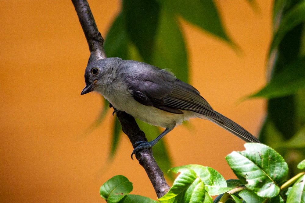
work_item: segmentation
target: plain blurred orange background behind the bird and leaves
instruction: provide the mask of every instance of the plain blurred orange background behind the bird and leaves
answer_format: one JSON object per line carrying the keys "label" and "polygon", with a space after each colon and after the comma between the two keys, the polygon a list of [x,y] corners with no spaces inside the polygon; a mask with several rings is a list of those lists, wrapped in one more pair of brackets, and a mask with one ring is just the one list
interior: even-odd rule
{"label": "plain blurred orange background behind the bird and leaves", "polygon": [[[271,1],[217,0],[236,53],[212,35],[182,21],[190,81],[212,107],[254,135],[264,119],[264,100],[239,100],[265,83],[271,39]],[[89,1],[100,32],[120,11],[120,1]],[[107,165],[111,112],[92,133],[82,133],[99,115],[98,94],[81,96],[89,51],[70,1],[1,1],[0,12],[0,202],[98,202],[99,187],[114,175],[133,182],[132,194],[156,199],[145,171],[130,159],[122,135]],[[162,68],[162,67],[160,67]],[[235,178],[224,157],[244,142],[201,119],[175,128],[165,140],[174,166],[210,166]]]}

